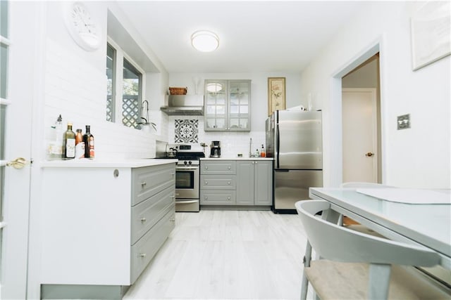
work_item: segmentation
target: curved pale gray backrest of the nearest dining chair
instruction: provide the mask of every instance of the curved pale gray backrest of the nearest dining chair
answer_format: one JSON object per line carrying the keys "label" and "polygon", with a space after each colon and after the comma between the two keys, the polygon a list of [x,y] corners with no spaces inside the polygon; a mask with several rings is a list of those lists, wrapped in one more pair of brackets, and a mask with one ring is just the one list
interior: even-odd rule
{"label": "curved pale gray backrest of the nearest dining chair", "polygon": [[440,263],[440,256],[426,247],[366,235],[320,219],[315,214],[330,209],[325,200],[302,200],[295,207],[311,247],[324,259],[406,266]]}

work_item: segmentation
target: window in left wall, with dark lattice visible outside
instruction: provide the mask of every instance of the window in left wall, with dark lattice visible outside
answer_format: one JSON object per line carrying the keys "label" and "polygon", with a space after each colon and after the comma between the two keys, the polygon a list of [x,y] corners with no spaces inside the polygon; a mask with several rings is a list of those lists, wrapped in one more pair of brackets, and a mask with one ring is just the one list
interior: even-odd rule
{"label": "window in left wall, with dark lattice visible outside", "polygon": [[[127,59],[126,53],[118,46],[107,44],[106,46],[106,121],[116,122],[121,118],[122,124],[135,129],[140,129],[142,106],[142,81],[143,74],[138,66]],[[123,70],[118,76],[116,70]],[[122,92],[118,91],[117,84],[122,81]],[[118,91],[118,95],[116,95]],[[118,96],[122,94],[121,98]],[[120,106],[118,106],[120,105]],[[118,114],[116,114],[118,111]]]}

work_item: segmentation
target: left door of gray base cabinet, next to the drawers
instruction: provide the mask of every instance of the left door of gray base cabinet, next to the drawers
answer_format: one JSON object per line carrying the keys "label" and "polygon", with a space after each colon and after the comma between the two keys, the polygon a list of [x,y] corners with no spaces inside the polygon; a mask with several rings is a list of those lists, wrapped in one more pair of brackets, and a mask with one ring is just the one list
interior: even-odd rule
{"label": "left door of gray base cabinet, next to the drawers", "polygon": [[254,205],[254,161],[237,162],[237,204]]}

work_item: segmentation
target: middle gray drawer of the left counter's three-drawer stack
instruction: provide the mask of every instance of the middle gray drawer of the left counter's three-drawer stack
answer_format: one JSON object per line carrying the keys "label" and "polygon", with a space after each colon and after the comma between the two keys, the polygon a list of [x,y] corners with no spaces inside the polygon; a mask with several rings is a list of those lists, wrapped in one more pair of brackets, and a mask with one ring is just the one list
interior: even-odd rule
{"label": "middle gray drawer of the left counter's three-drawer stack", "polygon": [[168,213],[175,202],[174,193],[173,185],[132,207],[132,237],[130,244],[135,244],[144,233],[147,233],[147,230]]}

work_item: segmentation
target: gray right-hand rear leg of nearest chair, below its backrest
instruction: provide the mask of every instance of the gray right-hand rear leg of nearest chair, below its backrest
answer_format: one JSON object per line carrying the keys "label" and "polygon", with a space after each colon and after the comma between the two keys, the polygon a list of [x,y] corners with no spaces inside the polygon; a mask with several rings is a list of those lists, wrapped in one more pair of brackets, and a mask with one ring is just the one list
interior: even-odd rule
{"label": "gray right-hand rear leg of nearest chair, below its backrest", "polygon": [[380,263],[369,265],[368,299],[388,298],[391,267],[391,265]]}

